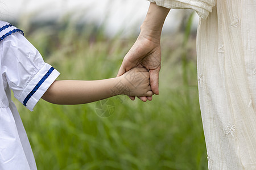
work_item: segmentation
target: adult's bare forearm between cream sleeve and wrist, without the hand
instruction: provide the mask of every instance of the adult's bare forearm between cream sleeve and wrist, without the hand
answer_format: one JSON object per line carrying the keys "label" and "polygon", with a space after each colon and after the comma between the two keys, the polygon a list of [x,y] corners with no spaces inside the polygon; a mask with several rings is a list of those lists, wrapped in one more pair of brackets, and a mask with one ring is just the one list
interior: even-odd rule
{"label": "adult's bare forearm between cream sleeve and wrist, without the hand", "polygon": [[150,3],[146,18],[141,25],[141,34],[146,36],[148,39],[152,37],[153,39],[160,41],[164,20],[166,19],[169,11],[169,8],[157,6],[155,3]]}

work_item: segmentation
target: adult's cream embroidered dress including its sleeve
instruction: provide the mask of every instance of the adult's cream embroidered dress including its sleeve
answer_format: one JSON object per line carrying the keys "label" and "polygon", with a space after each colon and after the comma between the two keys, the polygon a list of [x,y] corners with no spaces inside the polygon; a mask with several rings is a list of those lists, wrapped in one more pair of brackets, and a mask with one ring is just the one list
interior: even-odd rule
{"label": "adult's cream embroidered dress including its sleeve", "polygon": [[256,169],[256,1],[149,0],[200,16],[197,74],[209,169]]}

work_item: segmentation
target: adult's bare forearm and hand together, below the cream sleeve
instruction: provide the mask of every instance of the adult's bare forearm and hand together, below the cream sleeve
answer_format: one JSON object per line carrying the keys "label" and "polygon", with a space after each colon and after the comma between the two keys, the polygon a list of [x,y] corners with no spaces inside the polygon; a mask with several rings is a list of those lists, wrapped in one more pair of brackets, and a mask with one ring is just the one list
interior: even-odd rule
{"label": "adult's bare forearm and hand together, below the cream sleeve", "polygon": [[[120,76],[133,67],[146,67],[150,73],[150,85],[154,94],[159,94],[158,79],[161,68],[160,36],[164,20],[170,9],[150,3],[146,19],[141,25],[141,33],[133,47],[123,58],[122,65],[118,71]],[[130,96],[131,100],[135,97]],[[142,101],[152,100],[151,97],[139,97]]]}

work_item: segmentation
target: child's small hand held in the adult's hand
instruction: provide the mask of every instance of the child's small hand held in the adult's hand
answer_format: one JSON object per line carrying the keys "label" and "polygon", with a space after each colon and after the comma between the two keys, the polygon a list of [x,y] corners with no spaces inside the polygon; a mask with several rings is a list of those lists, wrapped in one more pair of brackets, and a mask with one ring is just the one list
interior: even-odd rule
{"label": "child's small hand held in the adult's hand", "polygon": [[121,77],[119,83],[125,86],[122,94],[128,96],[152,96],[153,92],[150,87],[149,73],[143,67],[135,67]]}

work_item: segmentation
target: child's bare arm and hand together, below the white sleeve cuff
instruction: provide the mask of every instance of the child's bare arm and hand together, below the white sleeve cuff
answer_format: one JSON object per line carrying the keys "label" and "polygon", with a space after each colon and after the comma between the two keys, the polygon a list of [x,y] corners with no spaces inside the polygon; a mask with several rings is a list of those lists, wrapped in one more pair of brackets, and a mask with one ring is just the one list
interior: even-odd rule
{"label": "child's bare arm and hand together, below the white sleeve cuff", "polygon": [[111,79],[55,81],[42,99],[54,104],[85,104],[115,95],[152,96],[148,71],[134,68]]}

